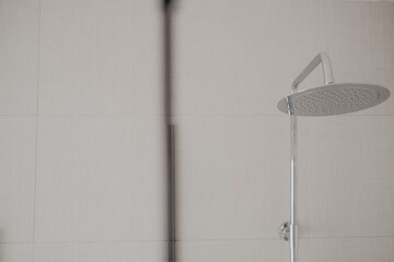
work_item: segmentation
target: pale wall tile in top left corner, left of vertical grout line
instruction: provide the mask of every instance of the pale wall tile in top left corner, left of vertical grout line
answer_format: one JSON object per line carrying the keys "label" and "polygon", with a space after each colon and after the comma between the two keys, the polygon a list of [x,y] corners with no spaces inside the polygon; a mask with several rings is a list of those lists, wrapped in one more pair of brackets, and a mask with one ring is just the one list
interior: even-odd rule
{"label": "pale wall tile in top left corner, left of vertical grout line", "polygon": [[35,115],[38,0],[0,1],[0,115]]}

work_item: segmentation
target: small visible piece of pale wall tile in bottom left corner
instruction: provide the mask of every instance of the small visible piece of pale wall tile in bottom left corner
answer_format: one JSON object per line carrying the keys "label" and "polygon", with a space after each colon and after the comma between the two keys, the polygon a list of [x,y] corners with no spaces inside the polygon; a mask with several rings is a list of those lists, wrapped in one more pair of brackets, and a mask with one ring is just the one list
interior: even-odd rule
{"label": "small visible piece of pale wall tile in bottom left corner", "polygon": [[0,243],[0,260],[33,262],[33,243]]}

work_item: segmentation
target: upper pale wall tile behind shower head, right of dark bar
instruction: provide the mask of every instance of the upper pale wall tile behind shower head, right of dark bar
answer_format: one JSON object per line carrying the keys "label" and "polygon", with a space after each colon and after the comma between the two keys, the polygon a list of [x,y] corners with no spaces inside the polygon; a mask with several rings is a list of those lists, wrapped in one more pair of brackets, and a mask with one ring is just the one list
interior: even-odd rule
{"label": "upper pale wall tile behind shower head, right of dark bar", "polygon": [[[394,91],[394,3],[193,1],[176,19],[177,115],[279,115],[277,102],[320,51],[338,82]],[[300,87],[322,84],[317,69]],[[394,115],[394,100],[363,111]]]}

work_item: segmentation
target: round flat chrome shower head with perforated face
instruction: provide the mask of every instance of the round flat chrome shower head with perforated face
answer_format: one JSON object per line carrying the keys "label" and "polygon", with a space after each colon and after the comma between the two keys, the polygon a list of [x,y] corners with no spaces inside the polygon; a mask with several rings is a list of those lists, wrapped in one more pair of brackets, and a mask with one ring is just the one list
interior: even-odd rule
{"label": "round flat chrome shower head with perforated face", "polygon": [[363,110],[386,100],[390,91],[370,84],[328,84],[297,92],[278,103],[278,109],[294,116],[333,116]]}

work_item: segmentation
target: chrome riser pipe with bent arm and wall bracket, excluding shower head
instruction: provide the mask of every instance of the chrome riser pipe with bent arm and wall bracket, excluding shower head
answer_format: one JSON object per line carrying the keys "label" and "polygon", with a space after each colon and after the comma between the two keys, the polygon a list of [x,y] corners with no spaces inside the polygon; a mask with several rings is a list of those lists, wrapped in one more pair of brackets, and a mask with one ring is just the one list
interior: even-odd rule
{"label": "chrome riser pipe with bent arm and wall bracket, excluding shower head", "polygon": [[[298,92],[299,84],[318,66],[322,64],[325,84],[334,83],[333,69],[327,53],[318,53],[308,67],[297,76],[291,85],[290,93]],[[298,133],[297,116],[292,114],[291,97],[287,97],[288,112],[290,115],[290,222],[283,223],[280,235],[285,240],[289,240],[290,262],[298,262]]]}

